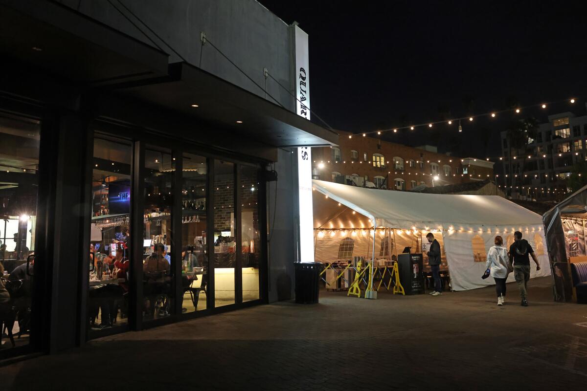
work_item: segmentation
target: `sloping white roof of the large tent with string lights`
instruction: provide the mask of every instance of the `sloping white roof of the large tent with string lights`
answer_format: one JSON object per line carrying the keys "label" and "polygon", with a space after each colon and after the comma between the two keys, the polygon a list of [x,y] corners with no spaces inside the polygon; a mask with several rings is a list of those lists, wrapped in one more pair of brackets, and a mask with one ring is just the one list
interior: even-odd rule
{"label": "sloping white roof of the large tent with string lights", "polygon": [[318,181],[313,188],[367,216],[377,227],[484,230],[542,227],[542,217],[500,196],[444,195],[359,188]]}

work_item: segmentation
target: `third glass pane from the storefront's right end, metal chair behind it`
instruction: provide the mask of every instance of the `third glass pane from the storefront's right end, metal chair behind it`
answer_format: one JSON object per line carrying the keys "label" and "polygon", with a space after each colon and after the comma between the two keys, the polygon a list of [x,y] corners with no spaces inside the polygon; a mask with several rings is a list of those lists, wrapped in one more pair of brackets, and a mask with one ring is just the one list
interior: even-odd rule
{"label": "third glass pane from the storefront's right end, metal chair behind it", "polygon": [[205,310],[208,282],[207,164],[204,157],[183,155],[181,197],[181,285],[183,312]]}

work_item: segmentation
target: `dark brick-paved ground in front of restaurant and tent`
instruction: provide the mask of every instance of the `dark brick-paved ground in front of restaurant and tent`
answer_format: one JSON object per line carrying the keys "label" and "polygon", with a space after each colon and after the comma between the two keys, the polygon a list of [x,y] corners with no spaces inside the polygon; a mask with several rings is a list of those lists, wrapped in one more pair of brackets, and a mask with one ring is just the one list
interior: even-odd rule
{"label": "dark brick-paved ground in front of restaurant and tent", "polygon": [[93,341],[0,369],[0,389],[574,390],[587,385],[587,305],[549,278],[378,300],[326,293]]}

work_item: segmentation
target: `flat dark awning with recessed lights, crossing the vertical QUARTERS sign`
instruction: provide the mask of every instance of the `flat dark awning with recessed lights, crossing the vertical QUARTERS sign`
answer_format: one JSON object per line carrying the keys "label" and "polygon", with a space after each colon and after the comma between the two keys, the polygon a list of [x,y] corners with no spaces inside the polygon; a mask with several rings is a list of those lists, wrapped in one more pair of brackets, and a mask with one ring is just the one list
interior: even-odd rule
{"label": "flat dark awning with recessed lights, crossing the vertical QUARTERS sign", "polygon": [[[124,96],[220,125],[235,137],[272,147],[317,147],[338,142],[335,131],[191,64],[170,64],[169,74],[168,80],[121,85],[120,91]],[[192,107],[193,104],[198,107]]]}

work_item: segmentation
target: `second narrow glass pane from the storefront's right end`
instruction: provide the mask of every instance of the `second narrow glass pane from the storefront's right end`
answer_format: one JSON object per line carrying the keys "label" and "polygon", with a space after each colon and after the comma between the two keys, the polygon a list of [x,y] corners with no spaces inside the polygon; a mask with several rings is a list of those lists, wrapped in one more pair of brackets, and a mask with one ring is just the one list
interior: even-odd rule
{"label": "second narrow glass pane from the storefront's right end", "polygon": [[234,304],[236,232],[234,164],[214,161],[214,300],[215,307]]}

